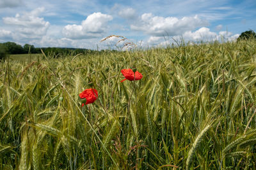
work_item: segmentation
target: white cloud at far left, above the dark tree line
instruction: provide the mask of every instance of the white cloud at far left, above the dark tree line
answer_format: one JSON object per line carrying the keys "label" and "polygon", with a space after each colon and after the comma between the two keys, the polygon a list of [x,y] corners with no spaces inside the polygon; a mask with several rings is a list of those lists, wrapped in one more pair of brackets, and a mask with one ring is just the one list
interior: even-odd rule
{"label": "white cloud at far left, above the dark tree line", "polygon": [[4,17],[3,22],[13,26],[13,38],[17,40],[39,39],[44,36],[50,26],[44,18],[38,17],[44,8],[36,8],[35,10],[20,15],[17,13],[15,17]]}

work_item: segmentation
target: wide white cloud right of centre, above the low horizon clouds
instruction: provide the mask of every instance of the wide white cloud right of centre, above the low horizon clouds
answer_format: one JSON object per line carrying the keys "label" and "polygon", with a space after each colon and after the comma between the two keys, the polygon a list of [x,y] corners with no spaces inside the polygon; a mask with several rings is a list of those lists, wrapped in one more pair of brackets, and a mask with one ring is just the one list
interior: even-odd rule
{"label": "wide white cloud right of centre, above the low horizon clouds", "polygon": [[176,36],[196,27],[208,25],[205,20],[195,17],[158,17],[152,13],[144,13],[138,22],[131,25],[135,31],[143,31],[151,36]]}

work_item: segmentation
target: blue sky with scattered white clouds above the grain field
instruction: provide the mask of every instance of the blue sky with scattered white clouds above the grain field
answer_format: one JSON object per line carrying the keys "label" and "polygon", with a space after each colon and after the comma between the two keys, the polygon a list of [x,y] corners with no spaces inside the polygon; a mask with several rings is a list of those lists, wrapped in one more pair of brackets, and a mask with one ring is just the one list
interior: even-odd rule
{"label": "blue sky with scattered white clouds above the grain field", "polygon": [[[256,0],[0,0],[0,43],[115,48],[233,41],[256,31]],[[101,41],[107,36],[111,37]]]}

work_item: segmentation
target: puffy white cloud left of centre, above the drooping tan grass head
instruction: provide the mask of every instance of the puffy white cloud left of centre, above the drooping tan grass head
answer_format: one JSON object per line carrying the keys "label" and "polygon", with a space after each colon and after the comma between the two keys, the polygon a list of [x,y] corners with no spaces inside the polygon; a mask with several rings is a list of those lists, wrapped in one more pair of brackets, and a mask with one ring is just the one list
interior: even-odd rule
{"label": "puffy white cloud left of centre, above the drooping tan grass head", "polygon": [[113,20],[111,15],[93,13],[81,25],[66,25],[62,31],[66,38],[90,39],[102,36],[108,29],[108,22]]}

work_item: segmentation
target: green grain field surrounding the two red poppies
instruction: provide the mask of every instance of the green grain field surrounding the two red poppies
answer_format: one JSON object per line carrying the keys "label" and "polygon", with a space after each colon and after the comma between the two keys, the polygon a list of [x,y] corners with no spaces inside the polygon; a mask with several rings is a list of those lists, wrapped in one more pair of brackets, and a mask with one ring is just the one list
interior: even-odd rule
{"label": "green grain field surrounding the two red poppies", "polygon": [[[121,69],[143,78],[126,80]],[[256,42],[0,62],[0,169],[256,169]],[[81,106],[79,94],[99,97]]]}

